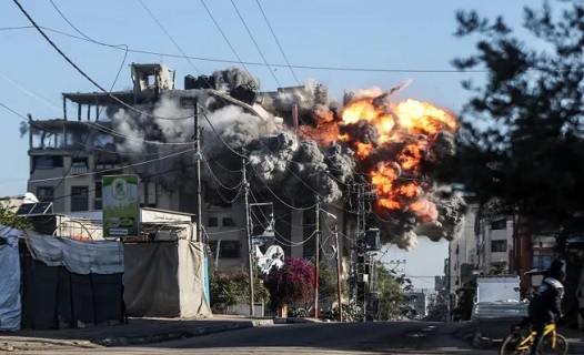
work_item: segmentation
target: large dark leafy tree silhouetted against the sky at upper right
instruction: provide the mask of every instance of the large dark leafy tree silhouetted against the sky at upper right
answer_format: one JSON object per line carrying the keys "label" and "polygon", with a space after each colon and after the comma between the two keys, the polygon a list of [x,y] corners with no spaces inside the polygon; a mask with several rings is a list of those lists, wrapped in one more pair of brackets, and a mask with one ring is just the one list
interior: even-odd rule
{"label": "large dark leafy tree silhouetted against the sky at upper right", "polygon": [[502,17],[457,12],[455,36],[479,40],[474,54],[453,64],[486,70],[486,82],[463,82],[472,98],[442,176],[480,204],[496,199],[507,212],[567,226],[584,211],[584,7],[555,3],[558,14],[548,1],[524,9],[528,42]]}

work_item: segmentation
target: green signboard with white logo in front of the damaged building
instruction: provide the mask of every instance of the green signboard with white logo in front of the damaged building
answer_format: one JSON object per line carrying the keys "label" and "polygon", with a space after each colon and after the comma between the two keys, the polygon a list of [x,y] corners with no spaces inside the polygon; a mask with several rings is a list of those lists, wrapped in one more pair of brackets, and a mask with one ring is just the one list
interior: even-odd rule
{"label": "green signboard with white logo in front of the damaged building", "polygon": [[103,237],[138,237],[140,197],[138,175],[110,175],[102,179]]}

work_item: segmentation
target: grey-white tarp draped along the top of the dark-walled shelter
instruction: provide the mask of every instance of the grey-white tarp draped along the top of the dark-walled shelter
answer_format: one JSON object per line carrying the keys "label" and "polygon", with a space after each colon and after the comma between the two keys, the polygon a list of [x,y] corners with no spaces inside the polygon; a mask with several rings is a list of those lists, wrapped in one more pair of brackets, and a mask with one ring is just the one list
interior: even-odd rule
{"label": "grey-white tarp draped along the top of the dark-walled shelter", "polygon": [[32,258],[47,266],[64,266],[75,274],[123,273],[123,245],[115,241],[75,241],[27,231]]}

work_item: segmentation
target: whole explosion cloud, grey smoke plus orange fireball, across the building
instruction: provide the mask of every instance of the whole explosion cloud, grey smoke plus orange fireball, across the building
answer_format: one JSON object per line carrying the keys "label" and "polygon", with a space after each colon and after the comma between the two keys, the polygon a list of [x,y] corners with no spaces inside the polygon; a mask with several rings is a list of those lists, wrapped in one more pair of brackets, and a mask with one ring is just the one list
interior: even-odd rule
{"label": "whole explosion cloud, grey smoke plus orange fireball, across the building", "polygon": [[[372,202],[370,226],[380,227],[383,242],[410,250],[417,245],[419,234],[432,240],[460,234],[464,201],[437,189],[432,176],[434,166],[454,153],[455,119],[424,102],[393,103],[391,94],[409,83],[387,92],[350,93],[343,105],[314,83],[260,93],[255,103],[236,104],[228,98],[232,90],[256,89],[258,79],[230,68],[197,80],[203,89],[163,92],[154,108],[138,106],[178,120],[109,110],[113,129],[127,136],[117,140],[119,152],[130,162],[160,158],[137,168],[151,181],[169,191],[193,192],[193,152],[189,151],[193,121],[179,120],[193,114],[192,108],[180,106],[180,98],[190,95],[204,112],[200,121],[208,202],[221,204],[238,197],[243,154],[249,158],[251,190],[264,199],[275,193],[303,206],[319,195],[324,203],[343,204],[342,197],[349,197],[343,196],[345,184],[365,179],[376,185],[379,200]],[[292,125],[294,112],[298,129]],[[356,179],[356,173],[362,178]]]}

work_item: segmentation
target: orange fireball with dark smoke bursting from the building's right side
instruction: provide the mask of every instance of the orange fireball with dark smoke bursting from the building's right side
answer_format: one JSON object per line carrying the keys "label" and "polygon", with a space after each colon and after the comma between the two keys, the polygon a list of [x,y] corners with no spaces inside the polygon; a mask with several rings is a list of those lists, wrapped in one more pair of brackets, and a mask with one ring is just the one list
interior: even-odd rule
{"label": "orange fireball with dark smoke bursting from the building's right side", "polygon": [[371,224],[383,242],[411,250],[420,233],[457,237],[465,204],[433,182],[436,164],[454,154],[455,118],[425,102],[393,103],[391,94],[407,84],[345,95],[339,138],[355,149],[358,171],[376,186]]}

